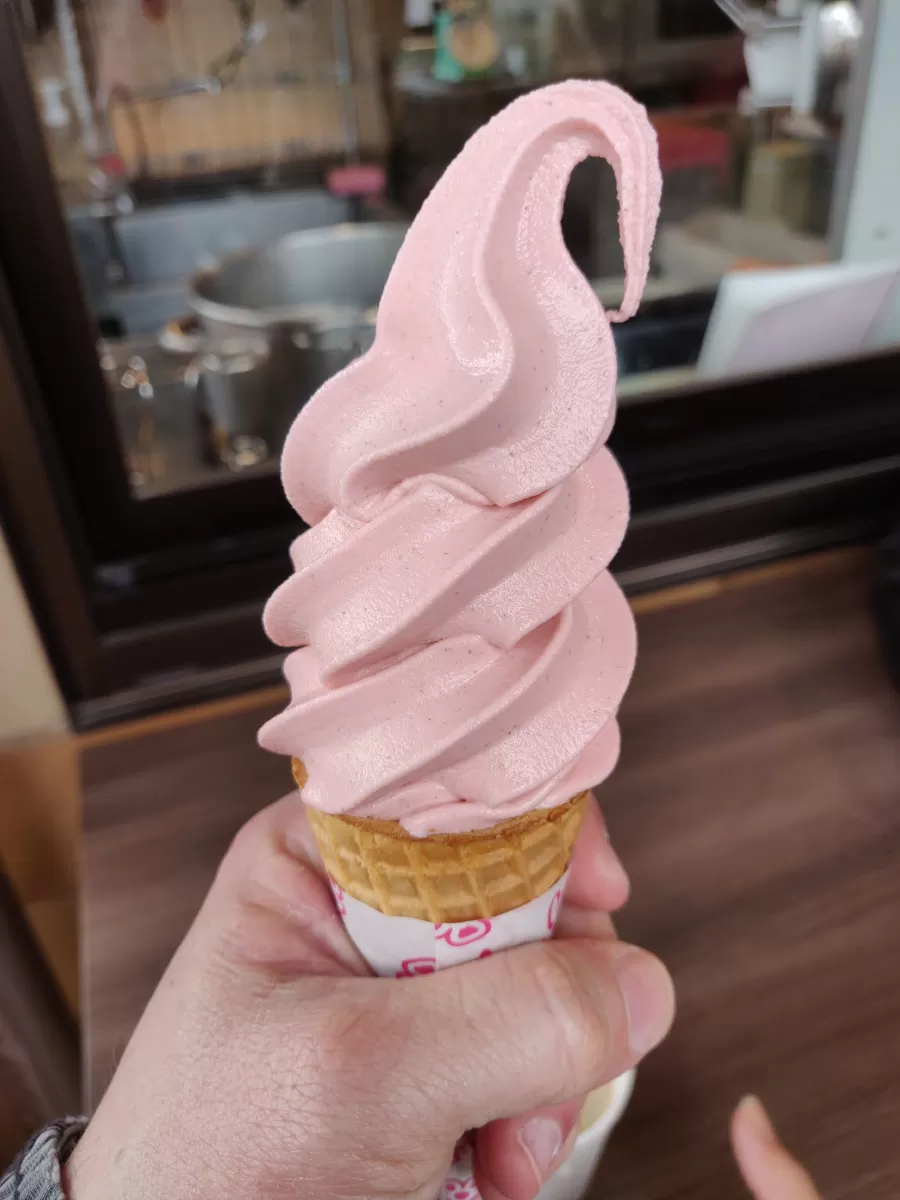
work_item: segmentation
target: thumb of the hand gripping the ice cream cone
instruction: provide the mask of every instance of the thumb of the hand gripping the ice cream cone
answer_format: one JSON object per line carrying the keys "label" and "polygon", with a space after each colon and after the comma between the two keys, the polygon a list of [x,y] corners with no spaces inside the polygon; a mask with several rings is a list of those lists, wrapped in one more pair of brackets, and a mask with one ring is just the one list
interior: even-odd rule
{"label": "thumb of the hand gripping the ice cream cone", "polygon": [[665,1037],[674,1009],[658,959],[588,938],[518,947],[403,986],[410,1021],[427,1022],[427,1069],[445,1085],[442,1115],[457,1134],[614,1079]]}

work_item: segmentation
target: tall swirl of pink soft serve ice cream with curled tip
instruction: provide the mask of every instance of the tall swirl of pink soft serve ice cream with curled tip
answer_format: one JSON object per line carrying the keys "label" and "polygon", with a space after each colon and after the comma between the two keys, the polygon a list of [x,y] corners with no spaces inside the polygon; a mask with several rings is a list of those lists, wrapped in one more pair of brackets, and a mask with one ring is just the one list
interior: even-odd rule
{"label": "tall swirl of pink soft serve ice cream with curled tip", "polygon": [[[617,313],[559,226],[589,155],[617,176]],[[312,528],[264,620],[300,649],[290,703],[259,739],[302,760],[307,804],[456,833],[612,770],[636,642],[606,569],[628,521],[604,444],[610,320],[640,302],[659,196],[653,128],[619,89],[515,101],[425,202],[372,349],[296,418],[282,475]]]}

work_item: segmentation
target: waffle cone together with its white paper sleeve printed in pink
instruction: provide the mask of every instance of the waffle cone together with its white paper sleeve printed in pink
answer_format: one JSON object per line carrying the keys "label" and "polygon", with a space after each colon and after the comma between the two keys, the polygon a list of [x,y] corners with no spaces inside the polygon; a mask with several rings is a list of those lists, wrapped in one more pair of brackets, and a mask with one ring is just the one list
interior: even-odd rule
{"label": "waffle cone together with its white paper sleeve printed in pink", "polygon": [[[306,768],[293,769],[302,792]],[[397,821],[307,814],[356,949],[376,974],[409,978],[552,937],[588,800],[427,838]],[[439,1200],[480,1200],[468,1140]]]}

